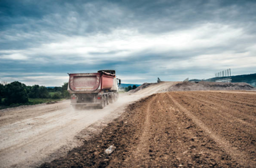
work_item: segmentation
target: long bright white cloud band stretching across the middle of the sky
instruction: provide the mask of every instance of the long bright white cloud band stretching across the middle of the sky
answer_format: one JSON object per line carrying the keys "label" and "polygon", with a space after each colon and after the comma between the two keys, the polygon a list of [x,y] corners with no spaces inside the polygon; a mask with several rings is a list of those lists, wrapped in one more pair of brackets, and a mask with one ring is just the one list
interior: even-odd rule
{"label": "long bright white cloud band stretching across the middle of the sky", "polygon": [[[60,37],[56,35],[56,37],[60,37],[58,41],[28,48],[20,51],[19,54],[10,55],[9,59],[46,56],[46,58],[52,58],[49,61],[56,60],[62,63],[74,64],[83,62],[83,60],[95,63],[95,55],[98,59],[105,61],[125,58],[146,51],[152,54],[162,54],[171,51],[182,52],[224,47],[239,39],[242,34],[241,28],[206,23],[194,29],[170,31],[163,34],[141,34],[133,29],[116,29],[110,34],[98,33],[91,36]],[[7,56],[3,57],[8,58]],[[70,57],[77,59],[67,62],[66,60],[69,60]]]}

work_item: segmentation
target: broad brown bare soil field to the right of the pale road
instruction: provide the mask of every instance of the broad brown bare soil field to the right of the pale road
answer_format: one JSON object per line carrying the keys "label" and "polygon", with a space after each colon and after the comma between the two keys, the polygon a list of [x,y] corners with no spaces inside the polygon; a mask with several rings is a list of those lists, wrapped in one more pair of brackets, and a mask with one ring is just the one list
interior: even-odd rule
{"label": "broad brown bare soil field to the right of the pale road", "polygon": [[41,168],[255,168],[255,130],[255,92],[159,93]]}

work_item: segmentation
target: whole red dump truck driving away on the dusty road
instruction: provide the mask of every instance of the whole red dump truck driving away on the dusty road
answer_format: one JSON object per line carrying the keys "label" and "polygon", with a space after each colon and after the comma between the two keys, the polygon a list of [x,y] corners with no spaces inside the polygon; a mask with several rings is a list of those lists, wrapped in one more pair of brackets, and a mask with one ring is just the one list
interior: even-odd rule
{"label": "whole red dump truck driving away on the dusty road", "polygon": [[115,70],[99,70],[97,73],[72,73],[69,75],[67,91],[73,108],[83,106],[104,106],[118,99],[118,86]]}

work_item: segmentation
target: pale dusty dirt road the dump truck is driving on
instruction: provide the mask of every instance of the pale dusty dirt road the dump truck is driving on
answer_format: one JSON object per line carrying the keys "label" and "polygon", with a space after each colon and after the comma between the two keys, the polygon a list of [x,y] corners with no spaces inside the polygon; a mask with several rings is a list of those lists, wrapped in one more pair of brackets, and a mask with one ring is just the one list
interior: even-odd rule
{"label": "pale dusty dirt road the dump truck is driving on", "polygon": [[[140,94],[120,94],[117,102],[97,110],[71,108],[69,101],[0,111],[0,168],[35,167],[61,157],[84,139],[100,132],[124,108],[175,82],[166,82]],[[138,92],[139,93],[139,92]]]}

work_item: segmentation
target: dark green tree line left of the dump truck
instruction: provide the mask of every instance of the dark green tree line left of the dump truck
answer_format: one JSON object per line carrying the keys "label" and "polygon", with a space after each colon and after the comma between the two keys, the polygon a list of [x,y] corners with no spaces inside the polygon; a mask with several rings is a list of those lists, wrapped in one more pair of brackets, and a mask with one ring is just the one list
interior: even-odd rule
{"label": "dark green tree line left of the dump truck", "polygon": [[[9,106],[10,104],[27,103],[28,98],[35,99],[61,99],[69,98],[67,92],[67,82],[61,87],[47,88],[45,86],[26,86],[18,81],[9,84],[0,84],[0,104]],[[50,95],[49,92],[55,92]]]}

